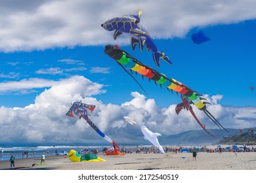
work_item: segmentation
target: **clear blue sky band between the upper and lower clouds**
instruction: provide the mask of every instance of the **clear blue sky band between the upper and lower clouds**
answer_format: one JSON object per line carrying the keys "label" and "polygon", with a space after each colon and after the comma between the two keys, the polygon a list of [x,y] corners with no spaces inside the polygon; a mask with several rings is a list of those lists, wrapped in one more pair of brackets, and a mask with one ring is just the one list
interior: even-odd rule
{"label": "clear blue sky band between the upper and lower clouds", "polygon": [[[255,29],[256,20],[248,20],[238,24],[194,28],[182,38],[156,40],[156,44],[174,63],[170,66],[161,61],[160,68],[154,65],[151,52],[132,51],[129,45],[120,46],[143,63],[202,94],[224,95],[219,102],[221,105],[255,106],[255,96],[249,90],[249,86],[255,86]],[[194,44],[190,36],[199,30],[203,30],[211,41]],[[106,32],[108,34],[112,33]],[[93,82],[104,84],[108,92],[97,97],[104,103],[120,105],[131,98],[129,93],[133,91],[146,95],[114,60],[104,54],[104,45],[1,52],[1,65],[1,83],[29,78],[59,80],[83,75]],[[153,82],[149,83],[136,75],[135,78],[146,89],[148,97],[156,99],[158,105],[167,107],[179,101],[179,97],[160,86],[156,87]],[[127,88],[123,90],[123,86]],[[2,92],[1,105],[25,107],[33,103],[42,90],[44,88],[33,88],[26,93],[18,89],[15,92]]]}

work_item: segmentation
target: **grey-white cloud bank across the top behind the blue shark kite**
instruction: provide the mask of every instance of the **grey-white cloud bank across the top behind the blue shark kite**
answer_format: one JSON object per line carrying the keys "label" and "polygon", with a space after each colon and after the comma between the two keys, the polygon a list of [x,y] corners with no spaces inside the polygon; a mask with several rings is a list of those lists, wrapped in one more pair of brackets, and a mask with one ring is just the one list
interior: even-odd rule
{"label": "grey-white cloud bank across the top behind the blue shark kite", "polygon": [[[29,5],[29,6],[27,6]],[[0,50],[44,50],[63,46],[106,43],[113,40],[100,24],[141,7],[142,24],[158,39],[184,37],[193,27],[231,24],[256,18],[256,2],[245,0],[19,0],[0,3]]]}

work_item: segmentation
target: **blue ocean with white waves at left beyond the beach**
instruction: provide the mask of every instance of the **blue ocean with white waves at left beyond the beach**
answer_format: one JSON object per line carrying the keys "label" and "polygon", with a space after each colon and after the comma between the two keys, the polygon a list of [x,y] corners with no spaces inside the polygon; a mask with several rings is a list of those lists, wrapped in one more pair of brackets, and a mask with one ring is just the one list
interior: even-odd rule
{"label": "blue ocean with white waves at left beyond the beach", "polygon": [[[98,152],[102,152],[102,149],[107,146],[87,146],[81,144],[75,145],[66,145],[66,144],[5,144],[0,143],[0,161],[6,161],[11,158],[12,155],[16,159],[20,158],[36,158],[41,157],[42,153],[45,153],[45,156],[56,156],[63,155],[64,151],[70,152],[70,150],[81,150],[84,152],[85,149],[92,150],[97,149]],[[49,154],[47,154],[47,151]]]}

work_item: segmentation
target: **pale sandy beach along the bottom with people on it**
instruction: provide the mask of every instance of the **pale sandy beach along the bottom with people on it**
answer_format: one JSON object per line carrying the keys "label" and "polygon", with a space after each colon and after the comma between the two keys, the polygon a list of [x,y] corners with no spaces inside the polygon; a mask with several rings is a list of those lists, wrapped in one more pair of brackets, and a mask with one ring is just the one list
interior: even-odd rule
{"label": "pale sandy beach along the bottom with people on it", "polygon": [[[46,156],[46,165],[41,158],[16,159],[16,170],[256,170],[256,152],[198,152],[196,161],[192,153],[167,154],[132,153],[125,156],[103,156],[101,162],[72,162],[68,156]],[[9,161],[0,161],[1,170],[10,170]]]}

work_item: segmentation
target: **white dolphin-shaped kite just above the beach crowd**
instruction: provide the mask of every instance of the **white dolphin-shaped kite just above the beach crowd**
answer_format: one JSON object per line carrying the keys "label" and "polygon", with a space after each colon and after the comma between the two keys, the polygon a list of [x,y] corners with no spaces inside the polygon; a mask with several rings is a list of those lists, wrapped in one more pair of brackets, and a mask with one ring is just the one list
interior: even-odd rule
{"label": "white dolphin-shaped kite just above the beach crowd", "polygon": [[154,144],[154,146],[158,147],[163,154],[165,154],[165,151],[163,150],[163,147],[159,144],[157,138],[158,136],[161,136],[160,133],[153,133],[144,125],[140,127],[140,130],[143,133],[145,140],[150,141],[152,144]]}

